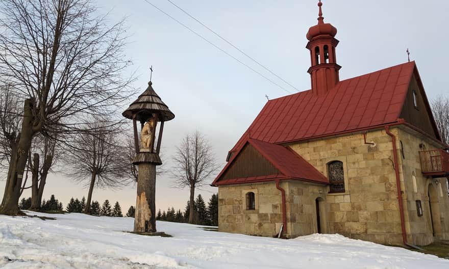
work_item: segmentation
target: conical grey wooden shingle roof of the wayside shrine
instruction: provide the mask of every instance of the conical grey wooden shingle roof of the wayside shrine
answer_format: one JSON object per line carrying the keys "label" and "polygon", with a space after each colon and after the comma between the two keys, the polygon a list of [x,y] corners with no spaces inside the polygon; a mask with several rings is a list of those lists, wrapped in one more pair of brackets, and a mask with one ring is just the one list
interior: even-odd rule
{"label": "conical grey wooden shingle roof of the wayside shrine", "polygon": [[151,117],[151,114],[156,114],[158,121],[169,121],[174,118],[174,114],[161,100],[152,85],[151,81],[148,82],[148,88],[122,113],[123,117],[132,119],[133,115],[137,115],[137,120],[140,121],[145,121]]}

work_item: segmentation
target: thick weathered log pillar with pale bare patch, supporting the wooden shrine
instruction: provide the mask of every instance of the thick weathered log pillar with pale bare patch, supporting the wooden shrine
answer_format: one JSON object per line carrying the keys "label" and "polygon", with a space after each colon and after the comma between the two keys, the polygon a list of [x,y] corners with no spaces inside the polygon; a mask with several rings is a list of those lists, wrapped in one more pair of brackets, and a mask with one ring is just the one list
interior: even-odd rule
{"label": "thick weathered log pillar with pale bare patch, supporting the wooden shrine", "polygon": [[156,232],[156,165],[140,163],[134,232]]}

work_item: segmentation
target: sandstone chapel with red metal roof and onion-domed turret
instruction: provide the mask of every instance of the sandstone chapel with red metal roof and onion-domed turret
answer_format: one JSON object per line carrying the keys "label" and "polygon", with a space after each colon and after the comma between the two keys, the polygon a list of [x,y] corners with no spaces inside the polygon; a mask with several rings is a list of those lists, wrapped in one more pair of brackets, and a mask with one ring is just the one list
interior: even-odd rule
{"label": "sandstone chapel with red metal roof and onion-domed turret", "polygon": [[311,89],[269,100],[212,183],[219,231],[449,240],[449,146],[416,63],[340,80],[337,29],[321,6],[306,36]]}

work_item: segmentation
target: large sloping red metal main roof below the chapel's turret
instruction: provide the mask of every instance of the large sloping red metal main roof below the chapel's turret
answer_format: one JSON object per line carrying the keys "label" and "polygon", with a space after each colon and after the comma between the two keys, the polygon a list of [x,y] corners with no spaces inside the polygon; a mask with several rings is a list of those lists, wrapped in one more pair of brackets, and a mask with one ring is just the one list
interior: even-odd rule
{"label": "large sloping red metal main roof below the chapel's turret", "polygon": [[269,100],[232,152],[248,138],[282,144],[396,122],[415,62],[342,80],[324,95],[311,90]]}

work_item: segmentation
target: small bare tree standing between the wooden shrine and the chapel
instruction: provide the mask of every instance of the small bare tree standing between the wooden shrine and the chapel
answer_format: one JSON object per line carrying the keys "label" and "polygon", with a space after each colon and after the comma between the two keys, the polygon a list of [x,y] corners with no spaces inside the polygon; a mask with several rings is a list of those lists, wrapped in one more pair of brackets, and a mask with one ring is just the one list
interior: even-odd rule
{"label": "small bare tree standing between the wooden shrine and the chapel", "polygon": [[208,184],[215,175],[218,169],[215,154],[206,138],[199,131],[195,131],[193,134],[188,134],[176,147],[176,153],[172,159],[174,162],[171,169],[174,179],[172,186],[190,189],[189,223],[193,224],[195,188]]}

